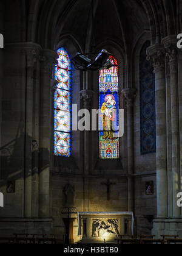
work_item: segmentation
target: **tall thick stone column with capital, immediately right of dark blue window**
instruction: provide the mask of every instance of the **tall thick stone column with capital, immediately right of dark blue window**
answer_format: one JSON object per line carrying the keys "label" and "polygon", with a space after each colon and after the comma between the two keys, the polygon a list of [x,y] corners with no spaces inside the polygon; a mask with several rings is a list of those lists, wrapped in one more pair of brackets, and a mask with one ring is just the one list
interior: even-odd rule
{"label": "tall thick stone column with capital, immediately right of dark blue window", "polygon": [[155,72],[157,218],[167,217],[167,144],[166,144],[166,79],[163,48],[156,44],[147,49]]}

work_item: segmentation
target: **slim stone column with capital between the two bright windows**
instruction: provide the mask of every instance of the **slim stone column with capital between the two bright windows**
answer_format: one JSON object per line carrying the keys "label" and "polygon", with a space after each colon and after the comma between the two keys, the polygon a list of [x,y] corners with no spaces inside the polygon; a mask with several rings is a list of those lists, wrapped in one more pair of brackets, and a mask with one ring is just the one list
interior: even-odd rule
{"label": "slim stone column with capital between the two bright windows", "polygon": [[[90,126],[91,126],[91,108],[92,108],[92,98],[94,92],[91,90],[80,91],[80,98],[83,99],[84,108],[90,112]],[[90,172],[90,143],[91,143],[90,131],[84,132],[84,176],[89,175]],[[89,180],[84,177],[83,180],[84,186],[84,212],[89,212]]]}

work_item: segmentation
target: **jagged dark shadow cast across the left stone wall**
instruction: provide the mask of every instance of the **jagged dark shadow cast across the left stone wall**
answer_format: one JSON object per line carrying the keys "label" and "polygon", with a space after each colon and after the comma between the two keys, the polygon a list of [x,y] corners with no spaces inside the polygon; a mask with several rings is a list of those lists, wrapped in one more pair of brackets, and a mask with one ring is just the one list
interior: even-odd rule
{"label": "jagged dark shadow cast across the left stone wall", "polygon": [[15,140],[0,148],[0,187],[7,180],[18,180],[33,176],[50,166],[50,154],[47,148],[39,148],[38,142],[24,133],[19,124]]}

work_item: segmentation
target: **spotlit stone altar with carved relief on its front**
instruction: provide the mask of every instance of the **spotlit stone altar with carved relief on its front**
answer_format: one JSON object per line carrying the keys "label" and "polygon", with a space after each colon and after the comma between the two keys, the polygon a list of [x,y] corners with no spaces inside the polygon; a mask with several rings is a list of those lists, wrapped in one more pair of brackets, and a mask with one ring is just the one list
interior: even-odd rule
{"label": "spotlit stone altar with carved relief on its front", "polygon": [[120,235],[133,235],[132,212],[79,212],[78,236],[82,243],[113,243]]}

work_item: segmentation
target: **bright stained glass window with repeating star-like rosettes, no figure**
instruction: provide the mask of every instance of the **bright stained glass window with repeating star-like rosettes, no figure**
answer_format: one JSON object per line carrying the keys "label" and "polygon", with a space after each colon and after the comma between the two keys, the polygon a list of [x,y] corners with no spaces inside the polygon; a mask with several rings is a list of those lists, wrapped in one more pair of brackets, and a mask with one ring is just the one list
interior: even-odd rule
{"label": "bright stained glass window with repeating star-like rosettes, no figure", "polygon": [[58,86],[54,98],[54,154],[71,155],[71,79],[72,66],[67,51],[59,48],[58,64],[55,65],[55,80]]}

